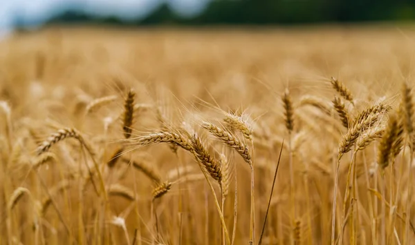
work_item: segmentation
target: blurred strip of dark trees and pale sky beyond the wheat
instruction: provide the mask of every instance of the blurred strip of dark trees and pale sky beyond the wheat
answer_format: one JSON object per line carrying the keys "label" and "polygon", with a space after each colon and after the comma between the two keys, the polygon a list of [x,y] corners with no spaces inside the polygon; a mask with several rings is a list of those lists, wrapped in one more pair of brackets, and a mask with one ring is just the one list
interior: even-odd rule
{"label": "blurred strip of dark trees and pale sky beyond the wheat", "polygon": [[415,1],[1,0],[0,16],[3,35],[57,23],[229,26],[410,21],[415,19]]}

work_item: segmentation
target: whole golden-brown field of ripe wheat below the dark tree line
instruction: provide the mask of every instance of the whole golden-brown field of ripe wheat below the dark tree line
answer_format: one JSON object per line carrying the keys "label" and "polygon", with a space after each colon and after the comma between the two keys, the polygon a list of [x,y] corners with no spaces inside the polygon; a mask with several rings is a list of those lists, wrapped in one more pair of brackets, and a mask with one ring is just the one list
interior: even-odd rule
{"label": "whole golden-brown field of ripe wheat below the dark tree line", "polygon": [[1,41],[0,244],[414,244],[414,55],[409,26]]}

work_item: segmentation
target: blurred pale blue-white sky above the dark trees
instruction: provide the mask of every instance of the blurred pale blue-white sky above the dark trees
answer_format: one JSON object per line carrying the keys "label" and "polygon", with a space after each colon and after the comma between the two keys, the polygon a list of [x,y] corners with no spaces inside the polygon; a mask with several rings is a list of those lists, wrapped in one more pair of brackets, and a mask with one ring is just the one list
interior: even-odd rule
{"label": "blurred pale blue-white sky above the dark trees", "polygon": [[199,14],[211,0],[0,0],[0,34],[12,30],[19,16],[28,23],[42,23],[62,10],[84,10],[100,16],[142,18],[161,3],[183,16]]}

